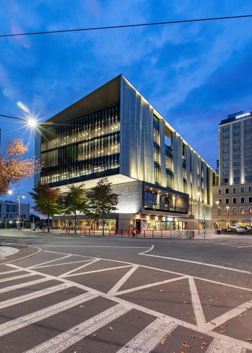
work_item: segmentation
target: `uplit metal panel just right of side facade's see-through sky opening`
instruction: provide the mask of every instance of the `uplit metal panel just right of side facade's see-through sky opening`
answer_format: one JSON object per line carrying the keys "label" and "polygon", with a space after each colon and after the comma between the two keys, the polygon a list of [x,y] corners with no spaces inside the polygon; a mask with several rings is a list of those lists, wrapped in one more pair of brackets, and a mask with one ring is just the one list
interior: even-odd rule
{"label": "uplit metal panel just right of side facade's see-through sky opening", "polygon": [[182,165],[182,153],[183,153],[183,140],[176,132],[171,134],[171,148],[172,148],[172,160],[173,160],[173,186],[174,190],[183,192],[183,165]]}

